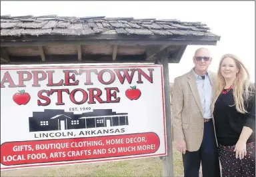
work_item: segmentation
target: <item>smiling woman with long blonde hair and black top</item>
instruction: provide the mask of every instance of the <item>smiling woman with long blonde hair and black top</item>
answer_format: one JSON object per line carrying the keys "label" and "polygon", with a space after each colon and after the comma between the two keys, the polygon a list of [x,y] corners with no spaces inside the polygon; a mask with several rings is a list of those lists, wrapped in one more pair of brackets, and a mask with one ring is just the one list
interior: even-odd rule
{"label": "smiling woman with long blonde hair and black top", "polygon": [[235,55],[221,57],[213,118],[222,176],[255,176],[255,87]]}

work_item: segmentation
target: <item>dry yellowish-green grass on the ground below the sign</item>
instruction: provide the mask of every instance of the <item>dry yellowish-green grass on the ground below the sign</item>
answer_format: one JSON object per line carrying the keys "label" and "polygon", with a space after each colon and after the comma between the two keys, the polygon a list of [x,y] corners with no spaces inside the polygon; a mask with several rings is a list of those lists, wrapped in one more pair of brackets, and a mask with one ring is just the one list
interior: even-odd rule
{"label": "dry yellowish-green grass on the ground below the sign", "polygon": [[[183,176],[181,153],[173,144],[174,176]],[[99,162],[70,166],[29,168],[1,172],[1,176],[161,176],[162,161],[156,158],[141,158],[115,162]]]}

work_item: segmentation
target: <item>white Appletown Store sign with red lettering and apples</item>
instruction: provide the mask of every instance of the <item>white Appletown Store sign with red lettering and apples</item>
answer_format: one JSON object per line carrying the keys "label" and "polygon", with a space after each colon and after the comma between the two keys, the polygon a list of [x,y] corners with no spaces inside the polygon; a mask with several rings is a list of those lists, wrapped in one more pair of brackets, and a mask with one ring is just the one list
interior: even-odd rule
{"label": "white Appletown Store sign with red lettering and apples", "polygon": [[1,170],[165,155],[161,65],[1,66]]}

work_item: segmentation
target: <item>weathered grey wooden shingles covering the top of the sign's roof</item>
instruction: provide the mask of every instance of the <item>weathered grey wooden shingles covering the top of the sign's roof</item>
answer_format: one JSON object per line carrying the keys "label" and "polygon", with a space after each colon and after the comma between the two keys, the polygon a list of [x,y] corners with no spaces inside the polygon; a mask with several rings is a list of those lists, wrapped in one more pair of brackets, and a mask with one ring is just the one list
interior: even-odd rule
{"label": "weathered grey wooden shingles covering the top of the sign's roof", "polygon": [[151,36],[219,36],[211,33],[201,22],[179,21],[177,19],[133,19],[105,17],[58,17],[46,16],[1,16],[1,39],[22,35],[151,35]]}

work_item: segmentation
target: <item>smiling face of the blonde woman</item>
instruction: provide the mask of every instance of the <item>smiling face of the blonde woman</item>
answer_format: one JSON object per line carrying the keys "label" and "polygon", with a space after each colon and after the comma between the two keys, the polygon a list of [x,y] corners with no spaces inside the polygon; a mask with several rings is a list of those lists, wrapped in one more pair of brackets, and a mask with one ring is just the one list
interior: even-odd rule
{"label": "smiling face of the blonde woman", "polygon": [[235,79],[238,72],[239,69],[237,68],[237,65],[235,65],[234,59],[229,57],[223,59],[221,62],[221,75],[224,79]]}

